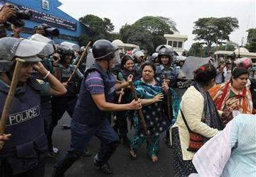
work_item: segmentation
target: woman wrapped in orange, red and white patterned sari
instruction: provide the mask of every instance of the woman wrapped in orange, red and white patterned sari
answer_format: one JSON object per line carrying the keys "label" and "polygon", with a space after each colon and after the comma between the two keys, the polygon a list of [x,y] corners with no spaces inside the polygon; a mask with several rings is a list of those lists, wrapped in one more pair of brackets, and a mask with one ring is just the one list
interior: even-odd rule
{"label": "woman wrapped in orange, red and white patterned sari", "polygon": [[[220,115],[223,110],[239,110],[240,113],[252,113],[252,95],[247,88],[249,73],[240,67],[233,70],[230,81],[216,85],[210,89],[210,96],[219,110]],[[229,120],[233,117],[230,116]],[[229,120],[225,120],[228,123]]]}

